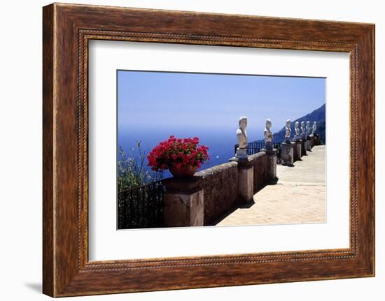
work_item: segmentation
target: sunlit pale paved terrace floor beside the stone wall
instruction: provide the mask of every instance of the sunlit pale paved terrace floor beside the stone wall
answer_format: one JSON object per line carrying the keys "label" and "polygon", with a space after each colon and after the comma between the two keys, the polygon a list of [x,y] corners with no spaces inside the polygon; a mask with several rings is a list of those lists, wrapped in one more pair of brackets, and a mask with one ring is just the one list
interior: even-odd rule
{"label": "sunlit pale paved terrace floor beside the stone wall", "polygon": [[216,226],[323,223],[326,219],[325,146],[313,147],[294,167],[276,166],[276,184],[255,193]]}

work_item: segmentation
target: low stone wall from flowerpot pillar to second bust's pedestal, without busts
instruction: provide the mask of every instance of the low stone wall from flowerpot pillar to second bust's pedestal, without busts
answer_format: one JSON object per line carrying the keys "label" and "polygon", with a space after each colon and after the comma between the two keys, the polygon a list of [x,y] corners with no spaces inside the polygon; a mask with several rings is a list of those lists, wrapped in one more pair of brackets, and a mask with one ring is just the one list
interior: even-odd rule
{"label": "low stone wall from flowerpot pillar to second bust's pedestal, without busts", "polygon": [[213,225],[236,205],[253,200],[255,192],[275,177],[273,150],[207,168],[190,179],[166,179],[165,226]]}

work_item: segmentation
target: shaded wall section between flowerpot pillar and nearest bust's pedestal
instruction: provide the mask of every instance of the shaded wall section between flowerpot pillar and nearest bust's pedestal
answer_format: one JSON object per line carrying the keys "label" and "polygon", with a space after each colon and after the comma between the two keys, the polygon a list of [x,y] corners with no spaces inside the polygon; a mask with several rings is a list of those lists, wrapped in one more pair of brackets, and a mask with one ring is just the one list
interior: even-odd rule
{"label": "shaded wall section between flowerpot pillar and nearest bust's pedestal", "polygon": [[195,174],[202,177],[204,225],[211,225],[235,206],[238,196],[238,163],[223,163]]}

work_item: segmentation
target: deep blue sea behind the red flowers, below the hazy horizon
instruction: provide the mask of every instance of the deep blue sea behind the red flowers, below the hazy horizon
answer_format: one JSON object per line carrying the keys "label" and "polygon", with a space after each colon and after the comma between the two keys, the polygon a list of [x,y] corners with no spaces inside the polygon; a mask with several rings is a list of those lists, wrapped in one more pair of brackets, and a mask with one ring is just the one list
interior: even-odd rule
{"label": "deep blue sea behind the red flowers, below the hazy horizon", "polygon": [[[208,131],[207,129],[190,129],[175,130],[175,129],[141,129],[132,131],[130,129],[118,133],[118,146],[123,147],[127,155],[130,154],[130,148],[136,147],[136,141],[141,141],[141,149],[148,154],[151,149],[159,144],[162,140],[167,140],[170,135],[175,135],[176,138],[200,138],[200,145],[209,147],[210,160],[202,165],[200,170],[216,166],[221,163],[226,163],[234,156],[234,145],[237,143],[235,138],[235,130],[225,131],[216,130]],[[255,136],[248,133],[248,140],[258,140],[262,135]],[[137,152],[137,151],[136,151]],[[146,160],[147,164],[147,160]],[[169,172],[165,172],[165,177],[169,177]]]}

